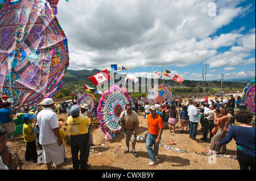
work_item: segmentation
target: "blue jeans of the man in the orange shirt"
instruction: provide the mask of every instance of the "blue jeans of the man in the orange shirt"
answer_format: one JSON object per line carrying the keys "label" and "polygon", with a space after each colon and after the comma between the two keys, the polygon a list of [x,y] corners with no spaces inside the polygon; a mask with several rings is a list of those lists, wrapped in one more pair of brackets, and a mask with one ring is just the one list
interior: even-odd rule
{"label": "blue jeans of the man in the orange shirt", "polygon": [[[158,155],[159,150],[159,144],[156,144],[156,138],[158,138],[158,134],[150,134],[150,132],[147,132],[147,138],[146,138],[146,148],[147,153],[151,159],[152,162],[156,162],[156,156]],[[154,145],[154,150],[152,149]]]}

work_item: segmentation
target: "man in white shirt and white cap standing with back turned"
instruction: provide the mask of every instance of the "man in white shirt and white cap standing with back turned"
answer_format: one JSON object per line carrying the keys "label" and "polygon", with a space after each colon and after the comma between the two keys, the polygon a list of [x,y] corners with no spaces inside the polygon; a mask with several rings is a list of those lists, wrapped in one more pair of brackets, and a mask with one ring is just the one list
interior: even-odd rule
{"label": "man in white shirt and white cap standing with back turned", "polygon": [[53,162],[56,169],[60,169],[60,163],[64,162],[63,141],[60,137],[58,116],[52,110],[54,102],[51,98],[43,100],[43,110],[38,113],[39,143],[43,146],[44,161],[47,169],[52,167]]}

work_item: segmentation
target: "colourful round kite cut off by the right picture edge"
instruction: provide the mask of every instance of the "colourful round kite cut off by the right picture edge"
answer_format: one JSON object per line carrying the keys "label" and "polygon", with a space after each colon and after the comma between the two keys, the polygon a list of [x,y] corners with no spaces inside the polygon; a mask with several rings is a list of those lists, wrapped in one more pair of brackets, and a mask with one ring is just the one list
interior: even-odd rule
{"label": "colourful round kite cut off by the right picture edge", "polygon": [[250,112],[255,115],[255,77],[243,89],[243,99],[246,100],[246,104]]}

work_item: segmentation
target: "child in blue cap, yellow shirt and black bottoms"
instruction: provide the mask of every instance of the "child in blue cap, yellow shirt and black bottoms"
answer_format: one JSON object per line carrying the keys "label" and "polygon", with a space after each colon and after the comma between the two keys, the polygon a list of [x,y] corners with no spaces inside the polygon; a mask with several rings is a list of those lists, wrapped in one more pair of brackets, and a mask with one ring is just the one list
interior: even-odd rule
{"label": "child in blue cap, yellow shirt and black bottoms", "polygon": [[28,113],[27,115],[23,116],[23,136],[24,141],[27,142],[26,153],[25,153],[25,160],[26,161],[33,161],[34,163],[38,160],[38,153],[36,152],[36,136],[34,132],[34,127],[32,126],[33,119],[36,115],[31,115]]}

